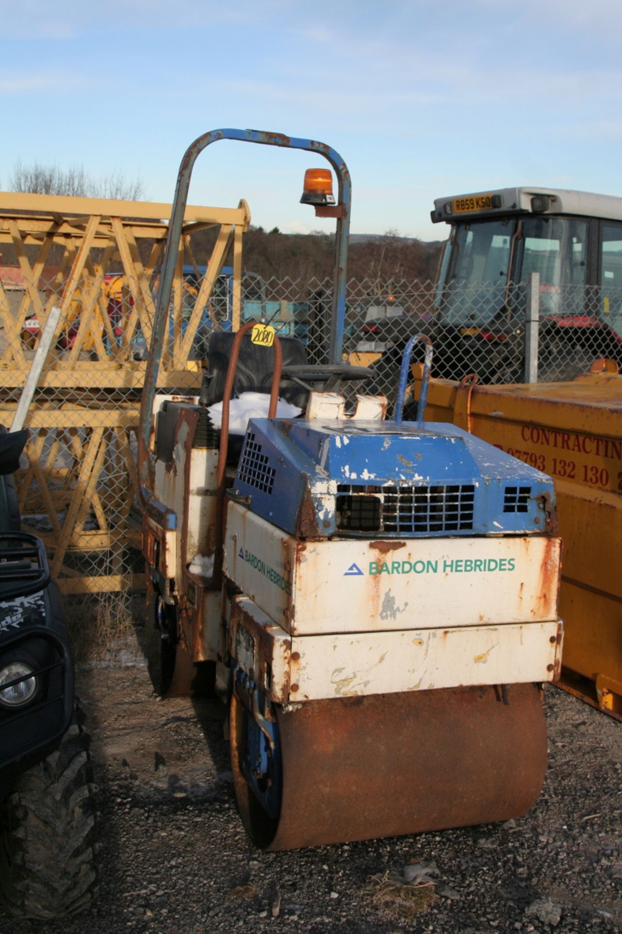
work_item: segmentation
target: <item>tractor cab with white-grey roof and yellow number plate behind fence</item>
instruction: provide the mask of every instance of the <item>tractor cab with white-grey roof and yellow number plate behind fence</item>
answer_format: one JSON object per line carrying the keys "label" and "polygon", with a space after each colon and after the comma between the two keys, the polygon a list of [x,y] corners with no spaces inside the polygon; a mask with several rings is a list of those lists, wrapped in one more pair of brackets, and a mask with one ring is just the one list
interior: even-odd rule
{"label": "tractor cab with white-grey roof and yellow number plate behind fence", "polygon": [[486,347],[489,361],[502,345],[511,348],[515,372],[505,375],[522,375],[522,339],[515,338],[534,273],[549,343],[571,341],[592,357],[622,358],[622,198],[500,189],[437,198],[432,220],[450,225],[435,333],[439,353],[454,359],[454,375],[461,354],[473,366],[474,344],[483,361]]}

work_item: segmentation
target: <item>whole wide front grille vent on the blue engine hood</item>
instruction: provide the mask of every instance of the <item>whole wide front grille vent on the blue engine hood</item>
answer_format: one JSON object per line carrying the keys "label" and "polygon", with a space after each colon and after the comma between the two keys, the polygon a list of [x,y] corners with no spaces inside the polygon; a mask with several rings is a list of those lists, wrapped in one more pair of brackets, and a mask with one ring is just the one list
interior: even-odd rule
{"label": "whole wide front grille vent on the blue engine hood", "polygon": [[337,527],[344,531],[423,534],[473,529],[473,484],[434,487],[340,485],[337,494]]}

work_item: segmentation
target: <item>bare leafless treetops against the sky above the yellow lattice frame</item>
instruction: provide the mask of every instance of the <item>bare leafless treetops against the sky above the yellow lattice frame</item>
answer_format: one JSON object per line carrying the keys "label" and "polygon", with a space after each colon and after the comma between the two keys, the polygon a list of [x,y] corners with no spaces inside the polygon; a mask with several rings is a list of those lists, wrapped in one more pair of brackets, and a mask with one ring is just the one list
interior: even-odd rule
{"label": "bare leafless treetops against the sky above the yellow lattice frame", "polygon": [[82,165],[62,169],[56,164],[15,163],[9,179],[9,191],[32,194],[66,194],[83,198],[115,198],[120,201],[140,201],[145,198],[145,185],[140,177],[126,178],[117,171],[93,178]]}

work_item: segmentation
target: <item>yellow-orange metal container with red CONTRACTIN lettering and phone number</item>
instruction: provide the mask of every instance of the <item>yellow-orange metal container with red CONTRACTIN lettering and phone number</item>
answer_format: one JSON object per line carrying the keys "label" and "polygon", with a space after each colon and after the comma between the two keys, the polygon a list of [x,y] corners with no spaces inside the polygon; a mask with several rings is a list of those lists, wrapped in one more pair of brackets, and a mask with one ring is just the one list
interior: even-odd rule
{"label": "yellow-orange metal container with red CONTRACTIN lettering and phone number", "polygon": [[[561,686],[622,718],[622,375],[469,389],[470,431],[556,481]],[[462,391],[432,380],[426,417],[455,422]]]}

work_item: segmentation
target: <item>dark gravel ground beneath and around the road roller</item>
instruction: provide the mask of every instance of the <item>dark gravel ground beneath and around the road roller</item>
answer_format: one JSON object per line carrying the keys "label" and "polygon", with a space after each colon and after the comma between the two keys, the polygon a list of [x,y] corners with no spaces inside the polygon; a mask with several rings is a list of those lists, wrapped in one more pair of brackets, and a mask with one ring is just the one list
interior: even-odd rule
{"label": "dark gravel ground beneath and around the road roller", "polygon": [[81,672],[78,688],[101,788],[99,898],[69,921],[0,917],[3,934],[622,931],[622,725],[555,687],[530,814],[278,854],[242,829],[215,701],[159,701],[141,665]]}

